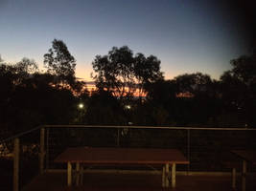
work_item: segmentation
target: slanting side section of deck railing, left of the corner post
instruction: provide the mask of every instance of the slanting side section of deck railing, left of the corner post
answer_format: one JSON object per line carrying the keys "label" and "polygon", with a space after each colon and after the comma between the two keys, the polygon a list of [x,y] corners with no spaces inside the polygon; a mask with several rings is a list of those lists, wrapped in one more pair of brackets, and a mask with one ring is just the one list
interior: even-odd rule
{"label": "slanting side section of deck railing, left of the corner post", "polygon": [[37,175],[38,160],[43,161],[40,156],[40,148],[44,147],[43,138],[40,141],[43,129],[38,126],[0,140],[1,190],[18,191]]}

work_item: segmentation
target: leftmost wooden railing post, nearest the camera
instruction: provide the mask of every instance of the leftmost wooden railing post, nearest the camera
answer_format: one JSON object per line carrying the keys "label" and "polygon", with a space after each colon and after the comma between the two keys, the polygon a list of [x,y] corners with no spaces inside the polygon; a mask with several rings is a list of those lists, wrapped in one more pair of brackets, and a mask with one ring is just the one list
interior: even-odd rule
{"label": "leftmost wooden railing post, nearest the camera", "polygon": [[19,138],[14,138],[13,148],[13,191],[18,191],[19,181]]}

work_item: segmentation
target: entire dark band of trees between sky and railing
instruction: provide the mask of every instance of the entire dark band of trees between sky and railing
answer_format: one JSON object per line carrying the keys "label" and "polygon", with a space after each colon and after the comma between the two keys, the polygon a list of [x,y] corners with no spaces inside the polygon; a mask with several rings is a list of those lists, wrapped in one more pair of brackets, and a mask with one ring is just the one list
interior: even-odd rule
{"label": "entire dark band of trees between sky and railing", "polygon": [[231,60],[220,80],[181,74],[165,80],[160,60],[113,47],[92,62],[97,90],[75,76],[76,60],[61,40],[44,54],[46,72],[33,59],[0,59],[1,134],[40,124],[254,127],[256,54]]}

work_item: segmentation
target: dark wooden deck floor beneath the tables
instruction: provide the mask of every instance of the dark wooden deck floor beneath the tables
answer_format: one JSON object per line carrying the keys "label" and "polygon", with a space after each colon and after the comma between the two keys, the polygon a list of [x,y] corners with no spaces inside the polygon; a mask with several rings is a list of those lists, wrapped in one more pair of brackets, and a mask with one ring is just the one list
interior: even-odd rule
{"label": "dark wooden deck floor beneath the tables", "polygon": [[[124,174],[124,173],[85,173],[83,186],[66,186],[66,174],[61,172],[45,173],[38,176],[22,191],[100,191],[100,190],[174,190],[161,187],[159,174]],[[256,188],[255,178],[246,182],[246,191]],[[229,176],[177,176],[175,191],[231,191],[231,177]],[[241,190],[238,178],[237,191]]]}

